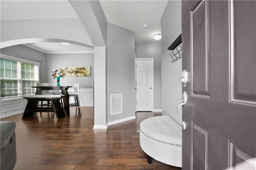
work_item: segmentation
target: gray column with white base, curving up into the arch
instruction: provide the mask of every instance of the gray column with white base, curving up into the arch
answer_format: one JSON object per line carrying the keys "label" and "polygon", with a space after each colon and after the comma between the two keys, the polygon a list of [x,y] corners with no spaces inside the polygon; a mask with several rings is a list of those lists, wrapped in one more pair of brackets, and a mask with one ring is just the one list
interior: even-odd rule
{"label": "gray column with white base, curving up into the arch", "polygon": [[106,92],[107,20],[99,1],[69,0],[69,3],[84,24],[94,45],[94,128],[106,128],[108,120]]}

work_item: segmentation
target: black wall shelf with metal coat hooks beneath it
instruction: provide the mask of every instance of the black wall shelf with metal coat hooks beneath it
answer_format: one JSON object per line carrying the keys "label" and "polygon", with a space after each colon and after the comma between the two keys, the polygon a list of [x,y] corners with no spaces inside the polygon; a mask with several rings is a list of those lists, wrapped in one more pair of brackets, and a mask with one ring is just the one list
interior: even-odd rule
{"label": "black wall shelf with metal coat hooks beneath it", "polygon": [[181,46],[181,34],[176,40],[168,47],[168,50],[172,50],[170,56],[172,57],[171,62],[175,62],[182,57],[182,46]]}

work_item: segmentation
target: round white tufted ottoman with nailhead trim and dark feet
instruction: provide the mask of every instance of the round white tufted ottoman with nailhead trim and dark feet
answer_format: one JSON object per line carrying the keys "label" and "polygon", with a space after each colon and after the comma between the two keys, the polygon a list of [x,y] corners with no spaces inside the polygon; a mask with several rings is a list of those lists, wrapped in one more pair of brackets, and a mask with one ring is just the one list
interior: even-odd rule
{"label": "round white tufted ottoman with nailhead trim and dark feet", "polygon": [[140,123],[140,146],[152,158],[181,167],[182,127],[169,116],[156,116]]}

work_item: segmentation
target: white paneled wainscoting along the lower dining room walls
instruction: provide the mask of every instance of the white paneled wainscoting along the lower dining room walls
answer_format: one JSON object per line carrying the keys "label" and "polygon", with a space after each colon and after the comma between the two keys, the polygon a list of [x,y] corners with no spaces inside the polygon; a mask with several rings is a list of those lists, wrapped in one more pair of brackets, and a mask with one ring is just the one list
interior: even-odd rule
{"label": "white paneled wainscoting along the lower dining room walls", "polygon": [[[81,106],[93,106],[93,89],[80,89],[79,101]],[[70,97],[70,103],[72,102],[74,102],[74,97]],[[1,100],[0,118],[23,113],[26,104],[27,100],[22,98]]]}

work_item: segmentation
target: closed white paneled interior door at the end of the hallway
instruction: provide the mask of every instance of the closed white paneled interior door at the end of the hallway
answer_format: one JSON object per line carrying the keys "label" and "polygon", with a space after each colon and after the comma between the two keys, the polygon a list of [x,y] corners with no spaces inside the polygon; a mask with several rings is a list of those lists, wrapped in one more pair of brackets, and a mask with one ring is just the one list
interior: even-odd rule
{"label": "closed white paneled interior door at the end of the hallway", "polygon": [[153,60],[136,59],[136,110],[152,111]]}

